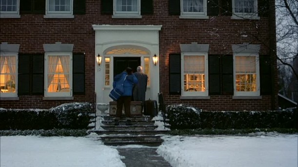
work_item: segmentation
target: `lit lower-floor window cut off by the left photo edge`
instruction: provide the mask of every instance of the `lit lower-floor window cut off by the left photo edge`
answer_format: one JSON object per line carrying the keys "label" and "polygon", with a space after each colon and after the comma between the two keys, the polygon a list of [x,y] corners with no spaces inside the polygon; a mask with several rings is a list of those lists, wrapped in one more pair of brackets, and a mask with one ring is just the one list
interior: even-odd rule
{"label": "lit lower-floor window cut off by the left photo edge", "polygon": [[0,55],[0,96],[18,97],[18,55]]}

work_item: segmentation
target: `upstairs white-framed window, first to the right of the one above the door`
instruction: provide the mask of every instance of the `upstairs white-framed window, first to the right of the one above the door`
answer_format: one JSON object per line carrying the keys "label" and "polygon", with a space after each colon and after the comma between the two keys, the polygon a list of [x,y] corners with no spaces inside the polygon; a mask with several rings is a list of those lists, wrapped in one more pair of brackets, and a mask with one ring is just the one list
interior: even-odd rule
{"label": "upstairs white-framed window, first to the right of the one above the door", "polygon": [[208,19],[207,0],[181,0],[181,19]]}

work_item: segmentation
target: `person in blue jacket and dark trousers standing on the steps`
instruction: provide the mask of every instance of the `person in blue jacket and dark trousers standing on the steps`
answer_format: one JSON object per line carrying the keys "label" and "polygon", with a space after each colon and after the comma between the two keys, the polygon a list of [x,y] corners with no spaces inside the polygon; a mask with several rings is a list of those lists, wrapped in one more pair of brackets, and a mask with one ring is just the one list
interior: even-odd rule
{"label": "person in blue jacket and dark trousers standing on the steps", "polygon": [[123,88],[124,92],[117,100],[117,110],[116,110],[116,119],[115,119],[115,125],[119,125],[119,119],[122,116],[122,106],[124,104],[124,111],[126,116],[126,125],[131,125],[130,120],[130,102],[131,102],[131,96],[133,87],[135,84],[138,83],[138,79],[135,75],[133,75],[133,70],[130,67],[127,67],[125,71],[122,73],[116,75],[114,77],[113,87],[117,85],[117,82],[121,81],[121,78],[125,77],[123,82]]}

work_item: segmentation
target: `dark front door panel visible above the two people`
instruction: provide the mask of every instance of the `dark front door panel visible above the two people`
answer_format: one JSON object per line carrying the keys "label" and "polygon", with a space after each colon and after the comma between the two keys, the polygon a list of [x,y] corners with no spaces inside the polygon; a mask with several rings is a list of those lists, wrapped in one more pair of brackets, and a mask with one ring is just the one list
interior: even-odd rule
{"label": "dark front door panel visible above the two people", "polygon": [[140,57],[114,57],[114,76],[122,73],[127,67],[132,68],[133,72],[136,72],[140,64]]}

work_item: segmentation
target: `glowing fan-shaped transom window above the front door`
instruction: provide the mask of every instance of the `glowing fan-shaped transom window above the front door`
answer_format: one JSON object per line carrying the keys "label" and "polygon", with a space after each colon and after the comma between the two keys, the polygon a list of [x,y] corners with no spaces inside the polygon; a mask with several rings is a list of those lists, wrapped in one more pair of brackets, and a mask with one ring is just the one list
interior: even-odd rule
{"label": "glowing fan-shaped transom window above the front door", "polygon": [[120,47],[108,50],[106,55],[149,55],[149,52],[142,48]]}

